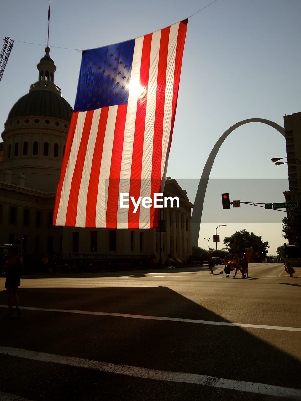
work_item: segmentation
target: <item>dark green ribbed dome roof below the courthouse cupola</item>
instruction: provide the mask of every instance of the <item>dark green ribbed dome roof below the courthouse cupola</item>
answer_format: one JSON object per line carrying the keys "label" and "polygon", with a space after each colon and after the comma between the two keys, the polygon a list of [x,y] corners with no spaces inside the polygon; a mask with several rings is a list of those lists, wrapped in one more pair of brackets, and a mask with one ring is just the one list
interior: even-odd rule
{"label": "dark green ribbed dome roof below the courthouse cupola", "polygon": [[73,109],[60,95],[52,91],[37,90],[27,93],[12,106],[7,119],[41,116],[71,121]]}

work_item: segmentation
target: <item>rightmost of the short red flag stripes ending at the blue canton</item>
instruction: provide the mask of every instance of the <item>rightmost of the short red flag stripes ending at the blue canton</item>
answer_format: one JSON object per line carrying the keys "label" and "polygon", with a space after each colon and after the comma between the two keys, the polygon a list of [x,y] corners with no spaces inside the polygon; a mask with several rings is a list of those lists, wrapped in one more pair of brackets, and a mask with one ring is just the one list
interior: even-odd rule
{"label": "rightmost of the short red flag stripes ending at the blue canton", "polygon": [[128,105],[118,105],[117,109],[110,168],[110,180],[108,187],[108,199],[106,204],[106,228],[117,227],[120,169],[127,107]]}

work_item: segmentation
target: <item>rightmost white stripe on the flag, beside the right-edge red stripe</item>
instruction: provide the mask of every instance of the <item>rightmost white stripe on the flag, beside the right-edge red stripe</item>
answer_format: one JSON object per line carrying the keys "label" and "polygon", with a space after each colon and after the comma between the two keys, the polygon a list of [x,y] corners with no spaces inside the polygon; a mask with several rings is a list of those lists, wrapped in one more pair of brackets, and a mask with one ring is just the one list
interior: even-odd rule
{"label": "rightmost white stripe on the flag, beside the right-edge red stripe", "polygon": [[164,103],[164,117],[163,117],[163,138],[162,138],[161,177],[163,179],[163,182],[165,182],[166,178],[165,174],[168,162],[167,150],[169,146],[169,137],[171,130],[171,112],[173,107],[173,81],[175,77],[175,55],[177,50],[179,25],[180,25],[179,22],[177,24],[171,25],[169,32],[165,103]]}

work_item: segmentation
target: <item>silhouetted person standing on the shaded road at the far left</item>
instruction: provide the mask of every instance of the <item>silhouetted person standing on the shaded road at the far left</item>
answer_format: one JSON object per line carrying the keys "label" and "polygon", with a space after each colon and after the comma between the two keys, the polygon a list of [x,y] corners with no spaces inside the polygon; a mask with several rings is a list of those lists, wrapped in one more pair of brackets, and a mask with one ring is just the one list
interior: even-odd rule
{"label": "silhouetted person standing on the shaded road at the far left", "polygon": [[23,260],[18,256],[18,248],[10,248],[9,258],[5,265],[6,281],[5,288],[7,294],[8,314],[6,318],[14,317],[12,305],[16,306],[17,315],[21,314],[19,308],[19,299],[17,295],[18,287],[20,286],[20,278],[23,270]]}

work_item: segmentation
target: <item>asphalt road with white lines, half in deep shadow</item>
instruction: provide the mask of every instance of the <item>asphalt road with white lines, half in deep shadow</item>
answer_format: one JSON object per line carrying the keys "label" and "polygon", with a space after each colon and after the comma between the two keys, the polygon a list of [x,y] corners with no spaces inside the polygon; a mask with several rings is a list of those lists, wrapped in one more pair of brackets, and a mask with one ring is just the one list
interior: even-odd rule
{"label": "asphalt road with white lines, half in deep shadow", "polygon": [[295,270],[24,277],[22,315],[0,320],[0,401],[301,399]]}

